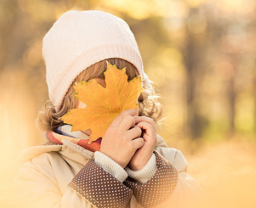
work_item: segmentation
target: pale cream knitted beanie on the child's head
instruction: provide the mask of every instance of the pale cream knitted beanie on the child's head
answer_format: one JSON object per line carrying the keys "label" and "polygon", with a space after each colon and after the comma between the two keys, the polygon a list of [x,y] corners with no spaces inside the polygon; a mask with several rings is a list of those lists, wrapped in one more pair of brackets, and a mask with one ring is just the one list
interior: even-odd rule
{"label": "pale cream knitted beanie on the child's head", "polygon": [[43,39],[49,99],[58,112],[70,85],[87,67],[108,58],[136,66],[143,88],[150,87],[138,45],[127,23],[104,11],[68,11]]}

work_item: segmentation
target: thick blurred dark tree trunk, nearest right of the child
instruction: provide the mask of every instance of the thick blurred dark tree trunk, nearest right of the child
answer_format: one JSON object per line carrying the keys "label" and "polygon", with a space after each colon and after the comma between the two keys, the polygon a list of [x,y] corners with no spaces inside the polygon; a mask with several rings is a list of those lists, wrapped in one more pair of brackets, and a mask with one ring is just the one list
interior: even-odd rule
{"label": "thick blurred dark tree trunk, nearest right of the child", "polygon": [[[186,85],[187,85],[187,129],[189,137],[195,140],[202,137],[203,118],[200,115],[201,104],[196,102],[196,89],[202,82],[204,72],[200,69],[200,63],[203,63],[203,54],[205,54],[205,46],[202,47],[204,39],[205,24],[202,20],[198,8],[191,8],[189,17],[186,21],[187,36],[184,44],[183,54],[186,64]],[[202,28],[203,27],[203,28]],[[202,64],[201,64],[202,65]]]}

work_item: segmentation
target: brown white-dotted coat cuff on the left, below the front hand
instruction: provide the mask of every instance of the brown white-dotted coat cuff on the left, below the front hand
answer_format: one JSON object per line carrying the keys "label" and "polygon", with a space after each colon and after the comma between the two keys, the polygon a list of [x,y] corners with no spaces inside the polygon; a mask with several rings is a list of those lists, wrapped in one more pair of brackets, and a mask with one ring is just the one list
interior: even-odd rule
{"label": "brown white-dotted coat cuff on the left, below the front hand", "polygon": [[125,208],[132,197],[131,189],[98,166],[93,159],[87,162],[68,187],[99,208]]}

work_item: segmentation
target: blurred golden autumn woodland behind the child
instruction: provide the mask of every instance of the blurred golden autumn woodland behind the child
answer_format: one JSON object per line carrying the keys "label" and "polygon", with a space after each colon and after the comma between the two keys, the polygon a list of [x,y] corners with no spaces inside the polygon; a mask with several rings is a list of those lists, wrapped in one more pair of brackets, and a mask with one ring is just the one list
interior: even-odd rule
{"label": "blurred golden autumn woodland behind the child", "polygon": [[217,207],[256,207],[254,0],[0,0],[0,207],[13,207],[18,154],[44,142],[42,38],[70,9],[127,21],[163,95],[159,134]]}

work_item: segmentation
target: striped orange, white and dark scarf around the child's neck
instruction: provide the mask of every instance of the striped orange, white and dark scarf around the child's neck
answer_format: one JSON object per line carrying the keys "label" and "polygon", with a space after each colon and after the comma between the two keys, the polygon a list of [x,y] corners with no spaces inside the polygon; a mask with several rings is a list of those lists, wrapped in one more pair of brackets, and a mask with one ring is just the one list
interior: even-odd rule
{"label": "striped orange, white and dark scarf around the child's neck", "polygon": [[83,132],[71,132],[71,129],[71,125],[59,126],[58,128],[54,128],[53,131],[46,132],[46,138],[49,142],[53,142],[54,144],[63,144],[61,140],[66,139],[91,152],[99,151],[102,138],[98,138],[96,141],[89,143],[88,135]]}

